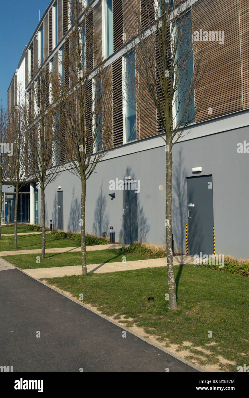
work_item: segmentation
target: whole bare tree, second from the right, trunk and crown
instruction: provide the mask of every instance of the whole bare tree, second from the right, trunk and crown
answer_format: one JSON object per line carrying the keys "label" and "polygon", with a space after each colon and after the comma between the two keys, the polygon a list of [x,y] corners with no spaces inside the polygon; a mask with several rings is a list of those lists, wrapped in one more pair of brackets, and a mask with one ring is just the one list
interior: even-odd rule
{"label": "whole bare tree, second from the right, trunk and crown", "polygon": [[68,9],[72,27],[60,60],[62,74],[54,76],[53,87],[60,103],[61,152],[81,181],[81,259],[82,273],[87,275],[86,181],[112,145],[112,127],[107,123],[110,82],[99,53],[99,38],[93,33],[91,6],[69,1]]}

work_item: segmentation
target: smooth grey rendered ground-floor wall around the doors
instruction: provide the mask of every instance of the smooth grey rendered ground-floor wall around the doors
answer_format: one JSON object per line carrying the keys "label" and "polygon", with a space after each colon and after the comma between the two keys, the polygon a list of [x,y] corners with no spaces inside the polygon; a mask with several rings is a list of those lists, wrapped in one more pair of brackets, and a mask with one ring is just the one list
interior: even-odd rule
{"label": "smooth grey rendered ground-floor wall around the doors", "polygon": [[[238,154],[237,143],[249,142],[248,127],[183,141],[173,147],[173,239],[174,251],[186,252],[187,182],[192,168],[202,166],[198,175],[212,174],[216,254],[249,258],[249,154]],[[163,141],[162,141],[163,142]],[[123,242],[123,191],[111,200],[109,181],[131,176],[140,180],[138,193],[138,240],[165,245],[165,148],[153,148],[97,165],[87,182],[86,230],[109,235],[112,225],[116,241]],[[115,152],[115,150],[114,150]],[[159,190],[163,185],[163,190]],[[45,191],[46,223],[57,225],[57,187],[64,192],[64,230],[78,231],[80,180],[62,172]],[[39,197],[40,206],[40,197]]]}

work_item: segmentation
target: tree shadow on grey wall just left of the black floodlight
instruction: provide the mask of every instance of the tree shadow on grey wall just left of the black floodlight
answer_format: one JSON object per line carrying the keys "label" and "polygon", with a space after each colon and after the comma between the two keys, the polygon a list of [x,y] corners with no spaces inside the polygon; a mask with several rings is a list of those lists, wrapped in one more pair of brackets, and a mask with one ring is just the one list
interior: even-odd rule
{"label": "tree shadow on grey wall just left of the black floodlight", "polygon": [[106,210],[107,200],[103,195],[103,181],[101,183],[101,189],[99,196],[97,197],[95,210],[94,210],[94,222],[93,222],[93,233],[95,236],[101,236],[103,232],[106,232],[106,236],[109,233],[109,214]]}

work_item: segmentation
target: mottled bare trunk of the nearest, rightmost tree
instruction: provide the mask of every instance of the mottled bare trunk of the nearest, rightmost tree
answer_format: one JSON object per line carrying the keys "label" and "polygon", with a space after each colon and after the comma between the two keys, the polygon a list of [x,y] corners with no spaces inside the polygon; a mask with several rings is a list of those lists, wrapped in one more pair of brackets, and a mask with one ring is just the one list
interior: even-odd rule
{"label": "mottled bare trunk of the nearest, rightmost tree", "polygon": [[175,293],[175,275],[173,265],[173,247],[172,247],[172,146],[167,142],[169,151],[166,152],[166,249],[167,249],[167,272],[169,285],[169,308],[177,308]]}

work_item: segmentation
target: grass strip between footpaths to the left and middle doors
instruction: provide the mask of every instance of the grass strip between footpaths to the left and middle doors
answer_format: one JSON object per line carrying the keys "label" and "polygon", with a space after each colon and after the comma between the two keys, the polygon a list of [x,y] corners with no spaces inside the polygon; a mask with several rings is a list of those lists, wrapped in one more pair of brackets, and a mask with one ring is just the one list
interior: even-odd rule
{"label": "grass strip between footpaths to the left and middle doors", "polygon": [[[20,235],[18,236],[18,249],[17,250],[29,250],[29,249],[41,249],[41,234],[37,235]],[[46,248],[67,248],[80,246],[80,242],[69,239],[61,239],[56,236],[46,235]],[[0,252],[5,250],[14,249],[14,236],[2,236],[0,240]]]}

